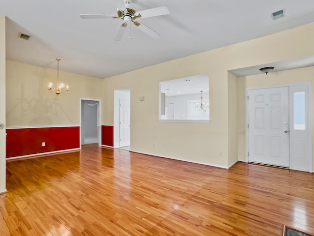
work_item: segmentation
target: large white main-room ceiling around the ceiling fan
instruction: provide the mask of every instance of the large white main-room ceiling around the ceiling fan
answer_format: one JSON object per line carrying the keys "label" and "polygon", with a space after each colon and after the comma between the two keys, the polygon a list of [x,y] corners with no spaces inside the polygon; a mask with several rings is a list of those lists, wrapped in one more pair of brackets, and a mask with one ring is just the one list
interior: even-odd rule
{"label": "large white main-room ceiling around the ceiling fan", "polygon": [[[132,39],[128,29],[115,42],[121,19],[78,16],[115,15],[112,0],[0,0],[8,18],[6,58],[54,69],[60,58],[60,70],[106,78],[314,22],[314,0],[133,0],[128,7],[163,5],[169,15],[138,19],[157,39],[132,25]],[[281,9],[286,16],[273,21],[271,13]]]}

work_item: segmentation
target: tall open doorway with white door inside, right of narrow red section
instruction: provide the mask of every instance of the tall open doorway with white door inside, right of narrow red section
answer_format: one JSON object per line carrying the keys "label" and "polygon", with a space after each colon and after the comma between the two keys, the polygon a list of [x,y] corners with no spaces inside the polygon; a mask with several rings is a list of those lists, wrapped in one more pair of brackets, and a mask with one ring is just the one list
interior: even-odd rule
{"label": "tall open doorway with white door inside, right of narrow red section", "polygon": [[114,90],[114,148],[130,149],[131,146],[130,89]]}

